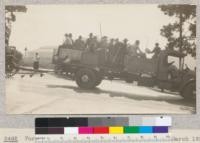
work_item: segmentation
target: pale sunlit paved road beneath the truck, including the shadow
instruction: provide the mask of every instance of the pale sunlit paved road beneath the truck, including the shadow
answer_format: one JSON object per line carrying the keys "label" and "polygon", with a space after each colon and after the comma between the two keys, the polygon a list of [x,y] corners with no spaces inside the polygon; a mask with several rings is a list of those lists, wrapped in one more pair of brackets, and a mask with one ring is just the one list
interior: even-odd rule
{"label": "pale sunlit paved road beneath the truck, including the shadow", "polygon": [[195,104],[177,94],[161,93],[123,81],[104,80],[94,90],[82,90],[74,81],[46,74],[20,75],[6,80],[9,114],[150,114],[195,112]]}

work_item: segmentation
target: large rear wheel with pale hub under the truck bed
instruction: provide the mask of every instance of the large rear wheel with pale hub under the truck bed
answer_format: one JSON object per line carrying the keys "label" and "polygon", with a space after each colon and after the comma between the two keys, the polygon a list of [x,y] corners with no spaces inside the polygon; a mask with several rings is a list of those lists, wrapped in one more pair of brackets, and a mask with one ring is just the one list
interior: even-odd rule
{"label": "large rear wheel with pale hub under the truck bed", "polygon": [[81,69],[76,73],[76,83],[80,88],[92,89],[96,86],[95,72],[89,69]]}

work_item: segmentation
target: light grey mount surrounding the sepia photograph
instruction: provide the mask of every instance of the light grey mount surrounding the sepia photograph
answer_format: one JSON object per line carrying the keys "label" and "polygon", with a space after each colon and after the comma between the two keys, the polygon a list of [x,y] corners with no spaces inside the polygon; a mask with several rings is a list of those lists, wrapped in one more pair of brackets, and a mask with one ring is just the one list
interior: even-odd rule
{"label": "light grey mount surrounding the sepia photograph", "polygon": [[[71,114],[71,115],[8,115],[6,114],[6,98],[5,98],[5,5],[28,5],[28,4],[196,4],[197,5],[197,98],[196,98],[196,114],[167,114],[172,116],[174,128],[200,128],[200,1],[198,0],[1,0],[0,1],[0,128],[29,128],[34,127],[34,119],[36,117],[134,117],[141,118],[144,115],[139,114]],[[153,114],[148,116],[158,116],[161,114]],[[162,114],[166,115],[166,114]]]}

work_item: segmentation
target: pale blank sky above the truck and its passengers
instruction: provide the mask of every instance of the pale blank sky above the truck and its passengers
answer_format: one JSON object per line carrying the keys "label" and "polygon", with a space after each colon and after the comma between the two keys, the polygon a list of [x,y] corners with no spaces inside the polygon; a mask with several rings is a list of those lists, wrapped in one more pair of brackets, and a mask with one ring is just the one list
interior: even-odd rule
{"label": "pale blank sky above the truck and its passengers", "polygon": [[[127,38],[129,44],[140,40],[140,48],[153,49],[156,42],[165,48],[166,38],[160,35],[163,25],[175,19],[164,15],[156,4],[107,5],[27,5],[26,13],[15,13],[10,45],[24,52],[62,44],[65,33],[87,38],[89,33]],[[191,59],[191,58],[190,58]],[[186,60],[187,62],[187,60]],[[191,60],[189,60],[191,62]],[[195,64],[193,64],[195,65]],[[193,68],[194,66],[192,66]]]}

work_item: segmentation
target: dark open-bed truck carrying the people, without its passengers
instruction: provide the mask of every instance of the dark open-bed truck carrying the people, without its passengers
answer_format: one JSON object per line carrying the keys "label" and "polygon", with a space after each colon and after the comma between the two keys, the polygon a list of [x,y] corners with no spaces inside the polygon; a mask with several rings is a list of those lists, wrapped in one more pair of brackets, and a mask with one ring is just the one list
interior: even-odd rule
{"label": "dark open-bed truck carrying the people, without its passengers", "polygon": [[[185,55],[177,51],[163,50],[158,58],[148,59],[140,56],[124,58],[124,66],[107,61],[102,52],[90,52],[78,49],[59,47],[53,55],[56,72],[73,75],[77,85],[83,89],[93,89],[104,79],[124,80],[128,83],[137,81],[142,86],[157,86],[164,91],[179,92],[185,99],[196,96],[196,73],[190,69],[178,69],[173,62],[168,62],[172,56],[184,59]],[[106,53],[105,53],[106,54]],[[102,62],[103,61],[103,62]]]}

